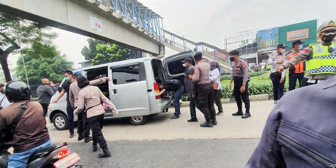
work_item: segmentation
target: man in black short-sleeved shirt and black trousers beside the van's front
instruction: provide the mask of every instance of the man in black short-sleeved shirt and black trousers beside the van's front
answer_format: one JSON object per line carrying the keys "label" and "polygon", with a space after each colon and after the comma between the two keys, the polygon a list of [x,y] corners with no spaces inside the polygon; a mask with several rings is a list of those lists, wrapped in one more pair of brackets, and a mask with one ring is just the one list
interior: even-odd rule
{"label": "man in black short-sleeved shirt and black trousers beside the van's front", "polygon": [[57,101],[65,94],[67,93],[67,114],[68,114],[68,129],[70,132],[69,138],[74,137],[74,110],[71,107],[70,103],[70,96],[69,96],[69,90],[70,90],[70,85],[75,81],[73,77],[73,73],[70,70],[67,70],[64,72],[64,78],[65,81],[62,84],[62,91],[58,95],[58,97],[53,101],[53,103],[57,103]]}

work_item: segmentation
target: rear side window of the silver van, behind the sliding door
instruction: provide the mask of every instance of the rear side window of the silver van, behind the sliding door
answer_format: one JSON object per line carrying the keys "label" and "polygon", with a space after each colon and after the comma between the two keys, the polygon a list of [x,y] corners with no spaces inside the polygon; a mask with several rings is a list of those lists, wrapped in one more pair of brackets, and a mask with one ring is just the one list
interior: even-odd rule
{"label": "rear side window of the silver van, behind the sliding door", "polygon": [[139,65],[112,69],[114,85],[140,81]]}

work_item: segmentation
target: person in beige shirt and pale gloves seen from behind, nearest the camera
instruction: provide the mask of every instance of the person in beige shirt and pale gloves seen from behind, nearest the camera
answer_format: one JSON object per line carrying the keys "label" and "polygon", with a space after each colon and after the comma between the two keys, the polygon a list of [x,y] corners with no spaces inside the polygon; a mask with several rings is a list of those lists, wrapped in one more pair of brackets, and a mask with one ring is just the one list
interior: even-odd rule
{"label": "person in beige shirt and pale gloves seen from behind, nearest the camera", "polygon": [[84,108],[86,109],[87,120],[89,121],[92,130],[93,151],[97,151],[97,143],[99,143],[100,148],[103,149],[103,153],[99,154],[98,157],[110,157],[111,153],[107,148],[106,140],[101,132],[105,113],[101,101],[115,114],[118,114],[117,109],[97,86],[90,86],[90,82],[85,76],[80,75],[76,80],[78,82],[78,87],[82,90],[78,93],[78,106],[75,109],[74,114],[77,115],[82,112]]}

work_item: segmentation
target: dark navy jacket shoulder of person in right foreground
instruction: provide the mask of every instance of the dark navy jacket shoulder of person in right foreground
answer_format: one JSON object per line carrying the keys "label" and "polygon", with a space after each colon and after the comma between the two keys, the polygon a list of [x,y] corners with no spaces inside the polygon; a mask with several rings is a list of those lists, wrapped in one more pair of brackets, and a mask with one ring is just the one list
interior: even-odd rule
{"label": "dark navy jacket shoulder of person in right foreground", "polygon": [[245,167],[336,167],[335,93],[336,76],[286,93]]}

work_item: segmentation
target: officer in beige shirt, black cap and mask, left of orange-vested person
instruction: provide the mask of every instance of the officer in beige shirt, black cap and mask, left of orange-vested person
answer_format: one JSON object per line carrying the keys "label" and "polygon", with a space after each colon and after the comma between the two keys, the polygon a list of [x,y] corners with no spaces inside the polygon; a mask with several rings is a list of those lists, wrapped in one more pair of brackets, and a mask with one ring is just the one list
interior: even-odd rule
{"label": "officer in beige shirt, black cap and mask, left of orange-vested person", "polygon": [[276,47],[276,51],[271,53],[268,58],[268,65],[272,65],[272,73],[269,75],[269,78],[271,78],[273,84],[274,104],[276,104],[278,100],[280,100],[280,98],[283,96],[283,88],[285,86],[285,76],[287,70],[283,71],[282,73],[274,72],[276,72],[276,69],[287,61],[287,58],[285,56],[286,47],[287,46],[285,46],[284,44],[279,44]]}

